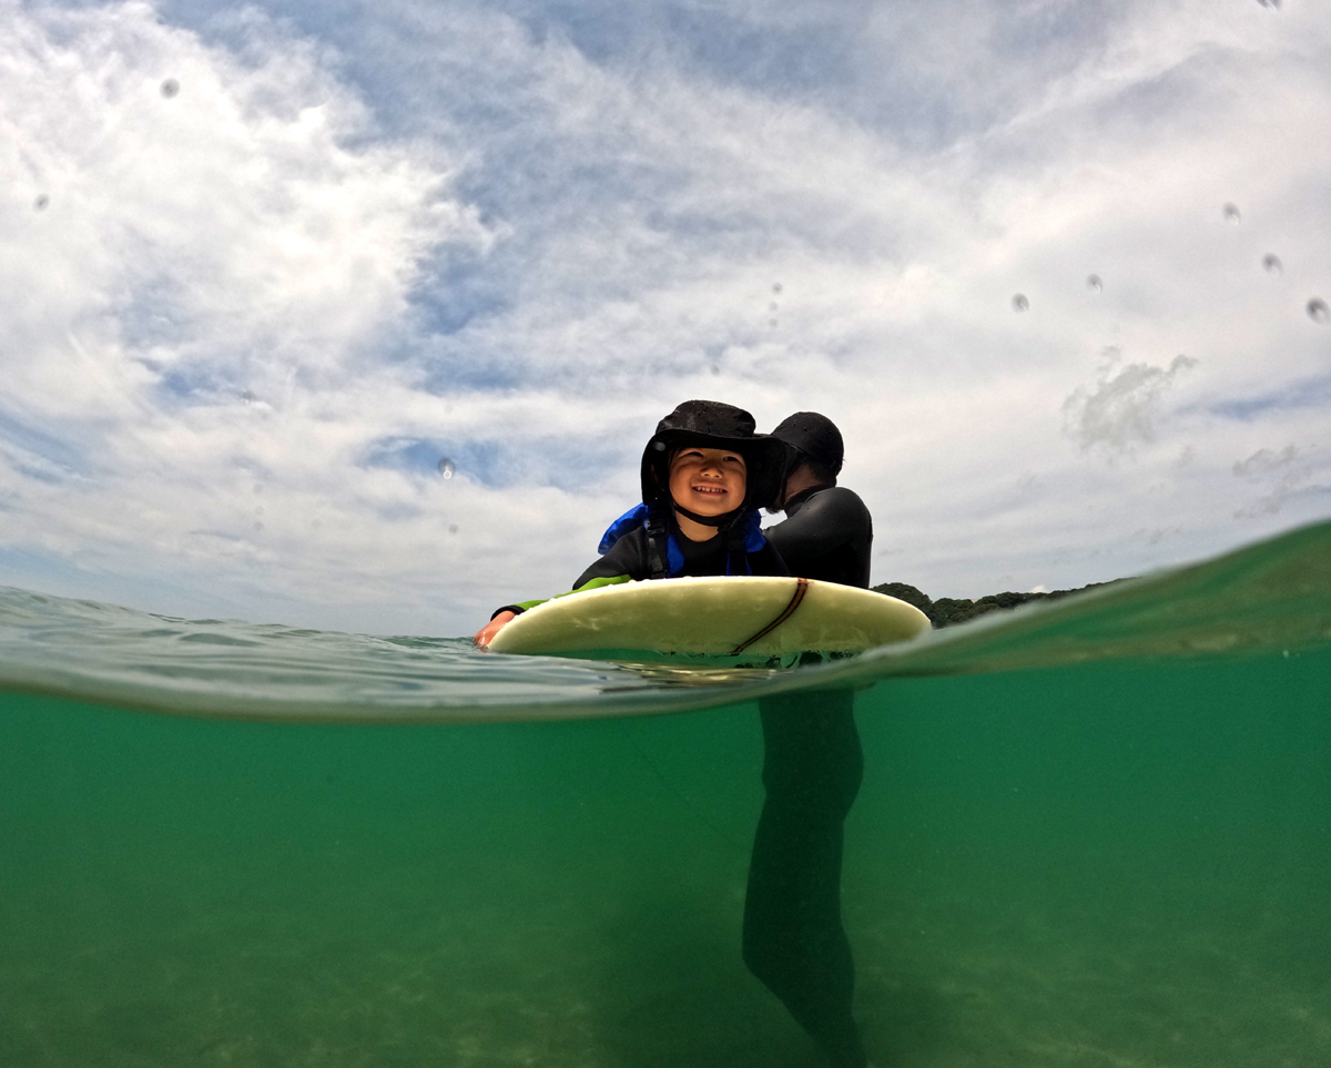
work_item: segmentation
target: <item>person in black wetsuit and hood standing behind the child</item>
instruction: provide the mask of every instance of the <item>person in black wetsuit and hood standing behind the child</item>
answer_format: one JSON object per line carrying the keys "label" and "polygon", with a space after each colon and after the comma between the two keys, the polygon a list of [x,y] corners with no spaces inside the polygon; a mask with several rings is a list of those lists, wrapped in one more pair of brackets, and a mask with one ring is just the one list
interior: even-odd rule
{"label": "person in black wetsuit and hood standing behind the child", "polygon": [[[769,527],[791,574],[868,587],[873,522],[836,485],[841,434],[799,411],[772,437],[791,450],[781,507]],[[837,1068],[866,1064],[851,1015],[855,963],[841,924],[843,823],[860,790],[864,756],[849,690],[763,698],[763,786],[744,900],[744,963],[823,1047]]]}

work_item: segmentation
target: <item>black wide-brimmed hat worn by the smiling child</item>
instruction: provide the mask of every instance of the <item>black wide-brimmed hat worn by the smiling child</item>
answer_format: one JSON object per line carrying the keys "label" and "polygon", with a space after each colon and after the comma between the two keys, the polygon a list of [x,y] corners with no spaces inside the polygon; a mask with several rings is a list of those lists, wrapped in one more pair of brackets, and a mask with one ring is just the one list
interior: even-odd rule
{"label": "black wide-brimmed hat worn by the smiling child", "polygon": [[785,446],[767,434],[743,407],[720,401],[684,401],[656,423],[643,451],[643,501],[669,503],[669,461],[680,449],[732,449],[748,469],[743,510],[772,501],[785,483]]}

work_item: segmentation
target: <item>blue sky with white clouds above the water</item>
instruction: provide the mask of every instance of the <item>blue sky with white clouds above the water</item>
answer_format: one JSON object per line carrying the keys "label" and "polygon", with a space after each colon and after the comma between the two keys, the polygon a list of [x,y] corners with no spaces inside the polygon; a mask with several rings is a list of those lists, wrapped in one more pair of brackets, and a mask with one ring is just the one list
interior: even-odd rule
{"label": "blue sky with white clouds above the water", "polygon": [[1327,129],[1331,0],[0,0],[0,585],[470,634],[689,398],[933,597],[1326,519]]}

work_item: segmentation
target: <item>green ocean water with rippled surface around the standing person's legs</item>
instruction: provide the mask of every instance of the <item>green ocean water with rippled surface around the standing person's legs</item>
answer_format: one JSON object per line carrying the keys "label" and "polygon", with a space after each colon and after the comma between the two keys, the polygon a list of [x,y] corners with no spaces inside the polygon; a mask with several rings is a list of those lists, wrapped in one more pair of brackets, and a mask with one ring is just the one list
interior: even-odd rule
{"label": "green ocean water with rippled surface around the standing person's legs", "polygon": [[0,1065],[816,1065],[739,932],[824,687],[876,1064],[1331,1064],[1322,525],[789,670],[3,590]]}

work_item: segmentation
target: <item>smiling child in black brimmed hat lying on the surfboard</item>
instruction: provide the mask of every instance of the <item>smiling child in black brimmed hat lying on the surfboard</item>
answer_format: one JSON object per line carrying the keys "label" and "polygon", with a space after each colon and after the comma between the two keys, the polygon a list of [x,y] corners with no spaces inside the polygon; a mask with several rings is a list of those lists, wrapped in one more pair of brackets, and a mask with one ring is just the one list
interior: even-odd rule
{"label": "smiling child in black brimmed hat lying on the surfboard", "polygon": [[[748,411],[717,401],[685,401],[662,419],[643,450],[643,502],[606,531],[600,559],[574,591],[683,575],[788,575],[759,511],[781,491],[787,446],[755,426]],[[539,603],[498,609],[476,645]]]}

